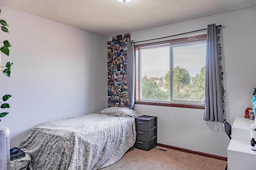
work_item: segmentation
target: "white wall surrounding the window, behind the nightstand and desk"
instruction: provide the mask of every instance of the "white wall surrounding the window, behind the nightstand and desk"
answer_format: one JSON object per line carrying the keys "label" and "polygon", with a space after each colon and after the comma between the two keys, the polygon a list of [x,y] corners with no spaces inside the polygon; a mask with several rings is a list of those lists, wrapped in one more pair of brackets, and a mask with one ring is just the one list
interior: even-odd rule
{"label": "white wall surrounding the window, behind the nightstand and desk", "polygon": [[[132,39],[139,42],[204,29],[207,24],[221,24],[225,117],[232,125],[237,115],[243,116],[246,107],[252,107],[256,87],[255,16],[256,7],[247,8],[132,32]],[[134,109],[143,115],[158,117],[158,143],[227,156],[230,139],[223,123],[204,121],[204,109],[150,105],[135,105]]]}

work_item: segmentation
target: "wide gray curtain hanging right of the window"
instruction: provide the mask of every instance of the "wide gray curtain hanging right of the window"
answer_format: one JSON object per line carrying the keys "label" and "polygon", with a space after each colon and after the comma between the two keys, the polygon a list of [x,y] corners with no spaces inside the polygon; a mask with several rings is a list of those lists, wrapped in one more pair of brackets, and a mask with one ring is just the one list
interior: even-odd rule
{"label": "wide gray curtain hanging right of the window", "polygon": [[204,120],[223,122],[218,36],[215,24],[207,26],[206,43]]}

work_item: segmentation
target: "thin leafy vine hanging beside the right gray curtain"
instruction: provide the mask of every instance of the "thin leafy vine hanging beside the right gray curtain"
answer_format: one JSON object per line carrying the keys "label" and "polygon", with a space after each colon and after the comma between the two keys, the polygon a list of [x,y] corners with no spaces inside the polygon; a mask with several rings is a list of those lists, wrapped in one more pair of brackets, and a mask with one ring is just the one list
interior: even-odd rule
{"label": "thin leafy vine hanging beside the right gray curtain", "polygon": [[[221,26],[220,26],[221,27]],[[218,28],[217,30],[218,34],[220,35],[220,28]],[[225,113],[225,109],[224,109],[224,95],[225,95],[225,90],[224,90],[224,86],[223,86],[223,69],[222,69],[222,65],[221,65],[221,60],[222,60],[222,47],[220,44],[220,36],[218,36],[218,56],[219,56],[219,60],[220,60],[220,85],[221,85],[221,89],[222,89],[222,112],[223,115]],[[226,121],[224,119],[224,121]]]}

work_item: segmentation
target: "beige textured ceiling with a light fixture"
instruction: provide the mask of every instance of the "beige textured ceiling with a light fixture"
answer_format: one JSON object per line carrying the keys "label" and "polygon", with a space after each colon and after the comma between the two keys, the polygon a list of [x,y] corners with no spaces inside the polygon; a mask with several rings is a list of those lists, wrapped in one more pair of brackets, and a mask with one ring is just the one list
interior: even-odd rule
{"label": "beige textured ceiling with a light fixture", "polygon": [[0,4],[110,37],[256,6],[256,0],[0,0]]}

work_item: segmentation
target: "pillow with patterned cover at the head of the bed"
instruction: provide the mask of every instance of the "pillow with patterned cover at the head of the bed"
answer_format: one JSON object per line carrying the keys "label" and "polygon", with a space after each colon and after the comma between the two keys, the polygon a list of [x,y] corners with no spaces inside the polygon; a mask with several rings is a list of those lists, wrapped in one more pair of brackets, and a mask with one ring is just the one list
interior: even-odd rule
{"label": "pillow with patterned cover at the head of the bed", "polygon": [[112,116],[120,116],[120,117],[129,116],[129,117],[133,117],[133,118],[142,116],[135,110],[128,109],[126,107],[108,107],[98,113],[112,115]]}

